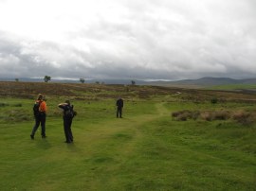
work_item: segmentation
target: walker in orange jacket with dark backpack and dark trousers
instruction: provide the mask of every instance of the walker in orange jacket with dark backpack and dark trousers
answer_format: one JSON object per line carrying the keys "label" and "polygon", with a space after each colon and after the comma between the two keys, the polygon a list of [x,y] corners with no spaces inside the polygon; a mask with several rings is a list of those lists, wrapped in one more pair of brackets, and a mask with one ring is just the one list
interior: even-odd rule
{"label": "walker in orange jacket with dark backpack and dark trousers", "polygon": [[42,138],[46,138],[46,100],[44,100],[44,96],[39,94],[37,100],[35,101],[34,107],[34,118],[35,125],[30,134],[31,139],[34,139],[34,135],[36,130],[41,125],[41,136]]}

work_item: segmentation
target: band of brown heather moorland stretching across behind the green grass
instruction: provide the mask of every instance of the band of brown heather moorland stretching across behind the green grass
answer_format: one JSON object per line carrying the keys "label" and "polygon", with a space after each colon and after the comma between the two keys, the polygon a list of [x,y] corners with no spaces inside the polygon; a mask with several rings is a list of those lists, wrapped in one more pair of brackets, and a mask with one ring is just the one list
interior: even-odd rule
{"label": "band of brown heather moorland stretching across behind the green grass", "polygon": [[[255,95],[237,92],[195,90],[161,86],[137,85],[106,85],[86,83],[45,83],[45,82],[20,82],[0,81],[0,96],[34,98],[39,93],[46,96],[69,96],[76,99],[98,98],[142,98],[148,99],[155,96],[171,97],[171,101],[189,101],[195,103],[211,102],[216,99],[223,102],[256,103]],[[177,94],[178,93],[178,94]],[[169,101],[168,98],[163,101]]]}

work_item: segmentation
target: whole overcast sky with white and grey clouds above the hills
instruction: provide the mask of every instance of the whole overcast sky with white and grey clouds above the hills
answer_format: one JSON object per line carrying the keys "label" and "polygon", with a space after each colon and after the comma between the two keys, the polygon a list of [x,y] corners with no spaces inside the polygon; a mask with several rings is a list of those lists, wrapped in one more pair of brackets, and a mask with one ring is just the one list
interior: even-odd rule
{"label": "whole overcast sky with white and grey clouds above the hills", "polygon": [[0,0],[0,78],[256,77],[255,0]]}

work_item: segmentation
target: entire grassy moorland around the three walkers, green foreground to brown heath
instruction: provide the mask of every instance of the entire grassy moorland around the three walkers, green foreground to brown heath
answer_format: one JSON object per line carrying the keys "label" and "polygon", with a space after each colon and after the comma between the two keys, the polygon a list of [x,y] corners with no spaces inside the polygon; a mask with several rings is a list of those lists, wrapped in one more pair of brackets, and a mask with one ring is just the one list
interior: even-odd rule
{"label": "entire grassy moorland around the three walkers, green foreground to brown heath", "polygon": [[[30,140],[38,89],[47,98],[47,138],[38,130]],[[68,145],[57,107],[66,98],[78,113]],[[0,82],[0,187],[256,190],[255,105],[255,95],[208,90]],[[172,115],[180,111],[200,117]]]}

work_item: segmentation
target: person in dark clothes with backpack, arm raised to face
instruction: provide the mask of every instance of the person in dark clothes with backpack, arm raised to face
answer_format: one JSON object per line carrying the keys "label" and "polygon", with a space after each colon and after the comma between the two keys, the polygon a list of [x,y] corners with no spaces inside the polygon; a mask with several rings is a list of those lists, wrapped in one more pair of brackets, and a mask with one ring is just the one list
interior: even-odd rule
{"label": "person in dark clothes with backpack, arm raised to face", "polygon": [[60,103],[58,105],[59,108],[63,109],[63,119],[64,119],[64,136],[65,143],[73,142],[73,134],[71,130],[72,120],[75,116],[75,112],[73,111],[73,105],[70,105],[70,101],[66,100],[64,103]]}

